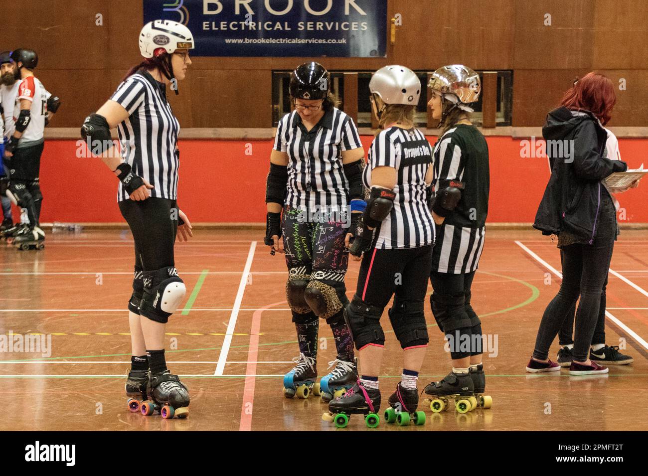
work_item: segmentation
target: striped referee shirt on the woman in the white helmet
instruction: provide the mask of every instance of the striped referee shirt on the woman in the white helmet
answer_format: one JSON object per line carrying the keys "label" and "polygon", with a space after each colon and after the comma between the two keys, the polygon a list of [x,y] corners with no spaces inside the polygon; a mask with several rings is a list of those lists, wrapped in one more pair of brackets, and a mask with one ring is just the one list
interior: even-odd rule
{"label": "striped referee shirt on the woman in the white helmet", "polygon": [[[124,161],[133,174],[153,185],[152,197],[177,199],[180,124],[168,104],[165,85],[141,70],[122,82],[111,100],[129,114],[117,126]],[[117,201],[126,199],[120,182]]]}

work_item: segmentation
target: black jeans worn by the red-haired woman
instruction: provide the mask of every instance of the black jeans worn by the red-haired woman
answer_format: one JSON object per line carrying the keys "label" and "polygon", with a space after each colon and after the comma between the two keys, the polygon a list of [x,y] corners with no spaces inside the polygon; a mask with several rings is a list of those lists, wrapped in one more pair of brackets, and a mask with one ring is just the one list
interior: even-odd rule
{"label": "black jeans worn by the red-haired woman", "polygon": [[616,239],[616,210],[605,192],[601,194],[598,220],[598,231],[591,245],[573,244],[562,250],[561,289],[542,315],[533,351],[536,359],[549,357],[551,343],[580,295],[575,317],[573,359],[579,362],[587,360]]}

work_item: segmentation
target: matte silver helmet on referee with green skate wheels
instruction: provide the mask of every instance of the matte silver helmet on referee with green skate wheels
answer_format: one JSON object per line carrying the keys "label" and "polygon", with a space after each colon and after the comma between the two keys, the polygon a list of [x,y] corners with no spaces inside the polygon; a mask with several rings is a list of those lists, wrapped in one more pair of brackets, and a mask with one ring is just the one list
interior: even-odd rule
{"label": "matte silver helmet on referee with green skate wheels", "polygon": [[385,104],[416,106],[421,97],[421,80],[404,66],[385,66],[371,76],[369,91],[380,96]]}

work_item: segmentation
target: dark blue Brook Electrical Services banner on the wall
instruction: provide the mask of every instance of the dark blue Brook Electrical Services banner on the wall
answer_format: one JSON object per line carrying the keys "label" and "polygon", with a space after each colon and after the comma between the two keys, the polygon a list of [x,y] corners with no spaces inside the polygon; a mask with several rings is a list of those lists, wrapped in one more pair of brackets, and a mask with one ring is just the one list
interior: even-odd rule
{"label": "dark blue Brook Electrical Services banner on the wall", "polygon": [[386,56],[387,0],[143,0],[183,23],[193,56]]}

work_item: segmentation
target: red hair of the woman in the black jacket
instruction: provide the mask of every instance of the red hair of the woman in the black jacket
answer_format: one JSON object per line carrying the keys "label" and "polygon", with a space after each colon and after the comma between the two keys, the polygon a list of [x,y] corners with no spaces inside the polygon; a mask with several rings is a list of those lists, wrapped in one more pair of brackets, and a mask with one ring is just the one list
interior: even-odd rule
{"label": "red hair of the woman in the black jacket", "polygon": [[616,104],[614,85],[607,76],[587,73],[562,96],[561,105],[568,109],[585,109],[605,126]]}

